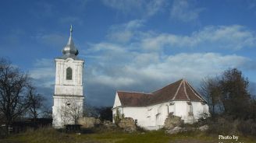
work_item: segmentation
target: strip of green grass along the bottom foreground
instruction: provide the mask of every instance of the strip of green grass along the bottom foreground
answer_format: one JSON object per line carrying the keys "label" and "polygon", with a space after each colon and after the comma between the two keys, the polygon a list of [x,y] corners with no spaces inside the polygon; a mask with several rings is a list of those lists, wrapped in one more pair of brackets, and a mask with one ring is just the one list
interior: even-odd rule
{"label": "strip of green grass along the bottom foreground", "polygon": [[[240,138],[244,143],[256,142],[255,138]],[[239,142],[237,141],[237,143]],[[209,135],[194,131],[183,134],[165,134],[164,131],[124,133],[123,131],[105,131],[93,134],[66,134],[52,128],[27,131],[9,138],[0,139],[1,143],[218,143],[218,135]],[[222,141],[231,143],[232,141]],[[236,142],[236,141],[233,141]]]}

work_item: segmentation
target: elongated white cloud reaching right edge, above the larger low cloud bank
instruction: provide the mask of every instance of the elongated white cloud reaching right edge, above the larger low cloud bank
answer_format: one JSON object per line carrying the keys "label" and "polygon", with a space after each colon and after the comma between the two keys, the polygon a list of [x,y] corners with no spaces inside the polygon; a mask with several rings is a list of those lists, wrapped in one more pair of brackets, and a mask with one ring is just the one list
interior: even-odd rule
{"label": "elongated white cloud reaching right edge, above the larger low cloud bank", "polygon": [[144,38],[142,47],[148,50],[159,50],[162,47],[195,47],[239,50],[254,47],[256,36],[254,31],[244,26],[206,26],[190,36],[172,33],[152,34]]}

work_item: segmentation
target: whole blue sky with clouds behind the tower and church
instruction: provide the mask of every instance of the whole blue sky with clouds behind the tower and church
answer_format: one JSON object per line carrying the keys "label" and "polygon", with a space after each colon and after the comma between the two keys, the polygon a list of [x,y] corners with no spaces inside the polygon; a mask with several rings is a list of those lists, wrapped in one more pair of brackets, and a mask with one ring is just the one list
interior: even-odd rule
{"label": "whole blue sky with clouds behind the tower and church", "polygon": [[112,106],[116,90],[151,92],[180,78],[198,87],[228,68],[253,89],[255,19],[254,0],[9,0],[0,5],[0,57],[29,72],[49,106],[70,24],[88,104]]}

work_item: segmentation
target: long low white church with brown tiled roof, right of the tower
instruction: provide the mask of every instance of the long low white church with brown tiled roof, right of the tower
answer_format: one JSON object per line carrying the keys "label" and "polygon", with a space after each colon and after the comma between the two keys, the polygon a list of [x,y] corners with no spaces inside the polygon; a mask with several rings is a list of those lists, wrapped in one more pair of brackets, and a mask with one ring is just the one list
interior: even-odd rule
{"label": "long low white church with brown tiled roof, right of the tower", "polygon": [[189,124],[202,113],[209,115],[207,102],[185,79],[150,93],[117,91],[112,111],[113,122],[117,114],[132,117],[138,126],[148,130],[163,127],[169,113]]}

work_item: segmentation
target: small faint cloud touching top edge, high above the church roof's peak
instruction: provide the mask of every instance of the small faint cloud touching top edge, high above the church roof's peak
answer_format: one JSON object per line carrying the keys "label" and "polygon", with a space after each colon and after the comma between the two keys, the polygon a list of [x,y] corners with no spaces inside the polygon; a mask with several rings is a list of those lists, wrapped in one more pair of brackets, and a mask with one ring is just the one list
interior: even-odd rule
{"label": "small faint cloud touching top edge, high above the church roof's peak", "polygon": [[195,8],[191,1],[175,0],[172,3],[171,18],[178,19],[183,22],[190,22],[197,20],[203,8]]}

